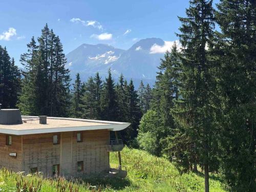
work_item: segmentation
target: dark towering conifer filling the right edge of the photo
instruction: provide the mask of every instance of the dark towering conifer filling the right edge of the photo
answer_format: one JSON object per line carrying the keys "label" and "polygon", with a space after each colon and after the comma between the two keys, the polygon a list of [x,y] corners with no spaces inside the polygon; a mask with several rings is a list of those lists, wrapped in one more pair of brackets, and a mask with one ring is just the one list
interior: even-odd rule
{"label": "dark towering conifer filling the right edge of the photo", "polygon": [[231,191],[255,191],[256,4],[222,0],[217,8],[222,170]]}

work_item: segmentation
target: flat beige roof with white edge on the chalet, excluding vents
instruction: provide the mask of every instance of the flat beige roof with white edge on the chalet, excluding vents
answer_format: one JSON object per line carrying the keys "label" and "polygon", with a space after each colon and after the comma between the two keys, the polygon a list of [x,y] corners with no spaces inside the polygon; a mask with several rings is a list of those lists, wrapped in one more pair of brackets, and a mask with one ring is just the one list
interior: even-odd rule
{"label": "flat beige roof with white edge on the chalet, excluding vents", "polygon": [[0,124],[0,133],[12,135],[29,135],[102,129],[120,131],[130,125],[130,123],[124,122],[60,117],[47,117],[47,124],[39,124],[39,118],[36,116],[22,116],[22,120],[22,124]]}

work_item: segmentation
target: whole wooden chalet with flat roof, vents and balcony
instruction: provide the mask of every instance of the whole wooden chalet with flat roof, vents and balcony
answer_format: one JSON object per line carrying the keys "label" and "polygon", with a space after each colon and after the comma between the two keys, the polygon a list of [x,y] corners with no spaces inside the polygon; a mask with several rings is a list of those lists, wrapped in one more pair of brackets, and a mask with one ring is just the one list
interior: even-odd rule
{"label": "whole wooden chalet with flat roof, vents and balcony", "polygon": [[[109,173],[110,152],[122,140],[111,139],[130,123],[46,116],[21,116],[0,108],[0,166],[14,172],[79,177]],[[117,134],[116,134],[117,135]]]}

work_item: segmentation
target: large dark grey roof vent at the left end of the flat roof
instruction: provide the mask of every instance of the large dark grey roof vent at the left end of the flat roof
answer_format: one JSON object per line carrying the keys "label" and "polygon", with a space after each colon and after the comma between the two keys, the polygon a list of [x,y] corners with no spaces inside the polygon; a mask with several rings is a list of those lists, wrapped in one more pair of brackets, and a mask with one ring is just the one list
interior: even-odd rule
{"label": "large dark grey roof vent at the left end of the flat roof", "polygon": [[17,109],[1,109],[0,124],[22,124],[20,111]]}

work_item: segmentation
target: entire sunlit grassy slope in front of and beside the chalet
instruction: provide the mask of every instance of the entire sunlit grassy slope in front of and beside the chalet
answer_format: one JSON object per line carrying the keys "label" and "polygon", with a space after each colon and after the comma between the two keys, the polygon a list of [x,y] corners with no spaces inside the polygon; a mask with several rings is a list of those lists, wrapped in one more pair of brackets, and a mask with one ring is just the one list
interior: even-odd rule
{"label": "entire sunlit grassy slope in front of and beside the chalet", "polygon": [[[174,165],[164,158],[127,147],[121,152],[121,157],[128,171],[125,179],[91,178],[68,182],[65,179],[44,179],[40,174],[23,176],[22,173],[2,169],[0,191],[203,191],[202,174],[181,176]],[[111,163],[117,162],[117,153],[111,153]],[[210,191],[224,191],[217,176],[210,177]]]}

